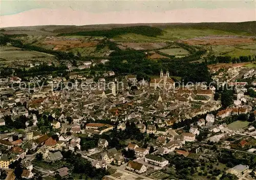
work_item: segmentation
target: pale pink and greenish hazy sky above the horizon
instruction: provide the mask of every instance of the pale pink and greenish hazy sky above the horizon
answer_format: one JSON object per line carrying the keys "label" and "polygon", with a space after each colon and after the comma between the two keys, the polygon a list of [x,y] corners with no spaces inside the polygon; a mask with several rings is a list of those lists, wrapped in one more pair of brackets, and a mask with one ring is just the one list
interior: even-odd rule
{"label": "pale pink and greenish hazy sky above the horizon", "polygon": [[256,20],[256,0],[0,0],[0,27]]}

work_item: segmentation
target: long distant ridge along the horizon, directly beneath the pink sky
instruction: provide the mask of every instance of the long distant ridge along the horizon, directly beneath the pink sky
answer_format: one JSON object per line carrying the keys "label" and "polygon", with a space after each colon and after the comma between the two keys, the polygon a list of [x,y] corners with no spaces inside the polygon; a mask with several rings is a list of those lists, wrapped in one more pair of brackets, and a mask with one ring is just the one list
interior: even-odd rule
{"label": "long distant ridge along the horizon, directly beneath the pink sky", "polygon": [[[25,31],[44,31],[52,33],[77,33],[87,31],[113,30],[116,28],[127,27],[151,27],[164,30],[166,28],[194,28],[194,29],[212,29],[227,32],[247,32],[250,35],[256,35],[256,21],[248,22],[201,22],[201,23],[135,23],[135,24],[93,24],[93,25],[42,25],[35,27],[14,27],[4,28],[6,31],[10,30],[25,30]],[[149,29],[149,28],[148,28]],[[132,29],[130,29],[132,30]],[[128,30],[128,31],[130,31]],[[137,28],[134,29],[138,33]],[[146,30],[146,29],[144,29]],[[16,32],[16,31],[15,31]],[[160,32],[159,30],[157,32]],[[108,32],[107,32],[108,33]],[[110,33],[111,34],[111,33]],[[153,33],[154,34],[154,33]],[[151,36],[151,35],[150,35]]]}

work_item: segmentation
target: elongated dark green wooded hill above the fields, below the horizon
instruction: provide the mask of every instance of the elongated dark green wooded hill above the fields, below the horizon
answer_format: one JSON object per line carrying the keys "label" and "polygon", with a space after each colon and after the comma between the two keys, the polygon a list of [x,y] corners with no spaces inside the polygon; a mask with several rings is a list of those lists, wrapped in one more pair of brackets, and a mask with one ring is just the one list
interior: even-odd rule
{"label": "elongated dark green wooded hill above the fields, below the horizon", "polygon": [[76,33],[62,33],[59,36],[104,36],[107,38],[113,38],[118,35],[124,35],[128,33],[135,33],[149,37],[156,37],[162,34],[162,30],[159,28],[148,26],[135,26],[125,28],[113,28],[111,30],[98,30],[98,31],[83,31]]}

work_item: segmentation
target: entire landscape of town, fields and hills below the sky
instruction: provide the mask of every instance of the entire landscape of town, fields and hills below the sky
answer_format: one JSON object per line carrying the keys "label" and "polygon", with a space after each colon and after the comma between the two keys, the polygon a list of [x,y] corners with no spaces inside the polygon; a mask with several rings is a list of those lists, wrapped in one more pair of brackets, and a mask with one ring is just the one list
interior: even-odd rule
{"label": "entire landscape of town, fields and hills below the sky", "polygon": [[0,179],[256,179],[256,21],[0,28]]}

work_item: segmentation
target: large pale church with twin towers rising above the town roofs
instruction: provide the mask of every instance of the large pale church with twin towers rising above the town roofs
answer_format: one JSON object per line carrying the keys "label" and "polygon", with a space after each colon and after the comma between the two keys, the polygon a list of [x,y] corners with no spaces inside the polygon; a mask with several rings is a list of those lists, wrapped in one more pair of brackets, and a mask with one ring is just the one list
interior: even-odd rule
{"label": "large pale church with twin towers rising above the town roofs", "polygon": [[169,77],[169,71],[166,71],[166,74],[163,73],[163,70],[160,72],[160,78],[154,78],[150,81],[150,87],[154,87],[155,89],[157,87],[161,89],[174,89],[175,88],[175,82],[172,80],[172,78]]}

